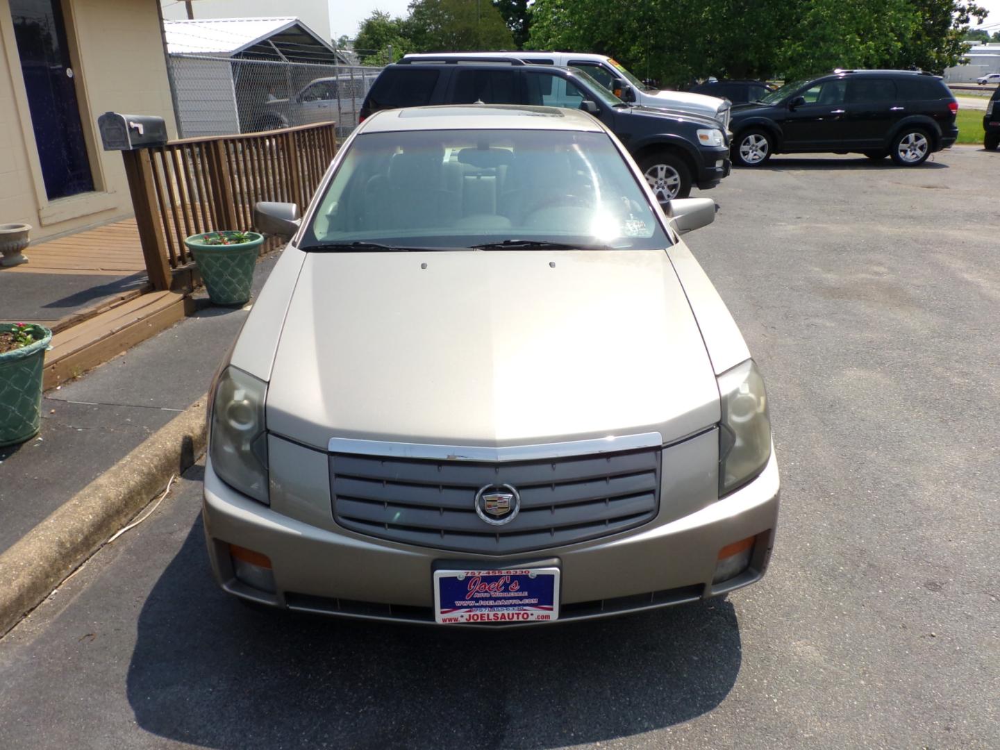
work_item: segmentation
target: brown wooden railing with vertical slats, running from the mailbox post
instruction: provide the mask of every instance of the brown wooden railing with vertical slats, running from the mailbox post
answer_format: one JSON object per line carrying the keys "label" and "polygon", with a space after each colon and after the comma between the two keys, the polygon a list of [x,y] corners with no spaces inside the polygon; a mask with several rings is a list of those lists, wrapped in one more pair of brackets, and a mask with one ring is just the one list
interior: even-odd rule
{"label": "brown wooden railing with vertical slats, running from the mailbox post", "polygon": [[335,124],[250,135],[185,138],[123,151],[139,238],[154,289],[191,261],[184,238],[254,229],[257,201],[304,211],[337,150]]}

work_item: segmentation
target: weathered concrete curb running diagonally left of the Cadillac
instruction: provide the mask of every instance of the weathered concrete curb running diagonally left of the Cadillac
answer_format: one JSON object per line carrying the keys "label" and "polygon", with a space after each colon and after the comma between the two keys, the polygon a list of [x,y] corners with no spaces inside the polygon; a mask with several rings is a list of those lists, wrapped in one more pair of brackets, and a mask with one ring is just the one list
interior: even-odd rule
{"label": "weathered concrete curb running diagonally left of the Cadillac", "polygon": [[0,554],[0,636],[205,450],[202,396]]}

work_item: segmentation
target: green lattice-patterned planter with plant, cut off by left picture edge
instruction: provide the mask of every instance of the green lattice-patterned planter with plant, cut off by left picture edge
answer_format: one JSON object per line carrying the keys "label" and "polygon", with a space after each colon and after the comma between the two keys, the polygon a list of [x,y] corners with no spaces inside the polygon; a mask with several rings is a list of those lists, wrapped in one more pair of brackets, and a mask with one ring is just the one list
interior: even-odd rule
{"label": "green lattice-patterned planter with plant, cut off by left picture edge", "polygon": [[0,447],[23,443],[41,427],[42,366],[52,331],[0,323]]}

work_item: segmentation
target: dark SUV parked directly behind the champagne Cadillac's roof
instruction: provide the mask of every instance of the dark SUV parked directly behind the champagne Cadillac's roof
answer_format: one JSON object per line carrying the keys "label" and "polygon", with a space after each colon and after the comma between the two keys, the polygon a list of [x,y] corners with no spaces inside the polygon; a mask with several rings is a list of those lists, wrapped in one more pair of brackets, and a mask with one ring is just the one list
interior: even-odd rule
{"label": "dark SUV parked directly behind the champagne Cadillac's roof", "polygon": [[696,185],[713,188],[729,174],[722,123],[691,113],[630,106],[586,73],[497,58],[420,59],[386,68],[361,106],[361,119],[381,109],[433,104],[527,104],[590,112],[629,150],[660,203]]}

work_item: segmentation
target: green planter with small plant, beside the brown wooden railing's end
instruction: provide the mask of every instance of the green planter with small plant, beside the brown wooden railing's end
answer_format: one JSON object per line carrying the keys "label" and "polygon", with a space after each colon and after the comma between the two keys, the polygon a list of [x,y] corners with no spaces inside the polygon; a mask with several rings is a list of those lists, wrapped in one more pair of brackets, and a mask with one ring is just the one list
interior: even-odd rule
{"label": "green planter with small plant, beside the brown wooden railing's end", "polygon": [[217,305],[244,305],[250,300],[253,269],[264,236],[256,232],[205,232],[184,240],[208,296]]}

